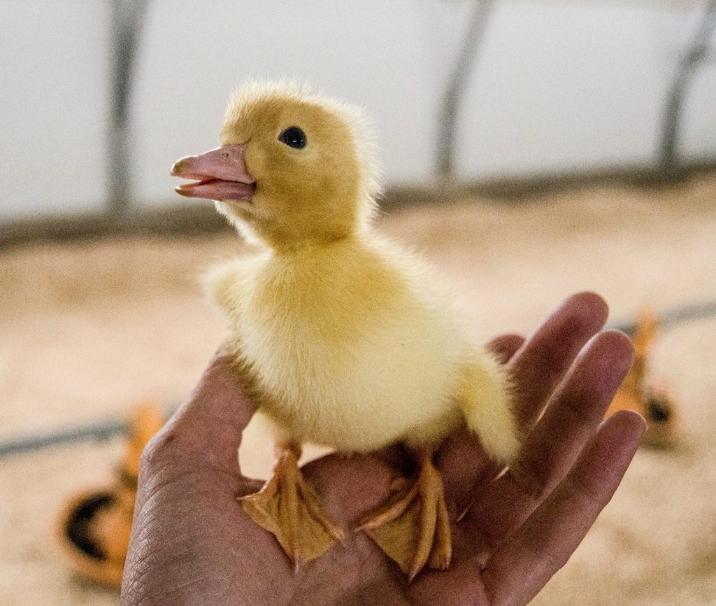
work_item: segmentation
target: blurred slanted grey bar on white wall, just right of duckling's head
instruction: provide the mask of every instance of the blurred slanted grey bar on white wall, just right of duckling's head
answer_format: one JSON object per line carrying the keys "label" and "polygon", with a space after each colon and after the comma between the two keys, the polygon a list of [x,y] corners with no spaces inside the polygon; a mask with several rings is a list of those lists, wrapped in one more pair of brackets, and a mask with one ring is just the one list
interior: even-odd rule
{"label": "blurred slanted grey bar on white wall, just right of duckling's head", "polygon": [[465,85],[478,54],[480,42],[485,37],[490,14],[495,0],[476,0],[473,15],[465,32],[463,46],[445,92],[442,95],[440,117],[437,121],[437,156],[435,171],[439,177],[451,178],[453,175],[453,156],[455,155],[455,122],[460,102],[463,100]]}

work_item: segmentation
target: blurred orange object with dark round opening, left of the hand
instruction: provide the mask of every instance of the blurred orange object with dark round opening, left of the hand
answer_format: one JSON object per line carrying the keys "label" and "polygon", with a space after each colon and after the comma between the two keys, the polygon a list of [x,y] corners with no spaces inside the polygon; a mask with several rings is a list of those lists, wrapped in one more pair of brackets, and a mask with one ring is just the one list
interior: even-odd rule
{"label": "blurred orange object with dark round opening, left of the hand", "polygon": [[115,485],[75,494],[60,512],[57,542],[67,564],[80,577],[111,587],[122,584],[140,456],[163,423],[156,406],[137,406]]}

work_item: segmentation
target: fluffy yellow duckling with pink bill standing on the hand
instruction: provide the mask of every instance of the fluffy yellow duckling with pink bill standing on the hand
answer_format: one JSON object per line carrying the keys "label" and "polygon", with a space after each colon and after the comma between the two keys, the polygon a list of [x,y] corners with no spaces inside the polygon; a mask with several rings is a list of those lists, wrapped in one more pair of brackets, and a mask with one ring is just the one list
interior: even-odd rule
{"label": "fluffy yellow duckling with pink bill standing on the hand", "polygon": [[228,351],[273,423],[277,463],[241,499],[296,566],[343,536],[298,467],[301,445],[342,452],[405,443],[417,478],[360,529],[415,577],[450,564],[450,521],[432,463],[467,423],[496,460],[518,448],[508,379],[469,342],[430,268],[377,234],[379,194],[364,119],[306,87],[236,92],[221,147],[179,160],[183,196],[217,210],[260,252],[216,267]]}

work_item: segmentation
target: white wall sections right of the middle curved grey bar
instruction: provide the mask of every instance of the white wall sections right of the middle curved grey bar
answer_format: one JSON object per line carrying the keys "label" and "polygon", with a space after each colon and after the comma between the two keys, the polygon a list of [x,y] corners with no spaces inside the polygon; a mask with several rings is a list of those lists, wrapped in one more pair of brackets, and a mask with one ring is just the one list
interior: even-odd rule
{"label": "white wall sections right of the middle curved grey bar", "polygon": [[[503,3],[461,120],[460,172],[652,161],[693,15],[628,2]],[[682,152],[716,155],[716,69],[700,74]]]}

